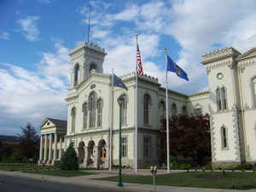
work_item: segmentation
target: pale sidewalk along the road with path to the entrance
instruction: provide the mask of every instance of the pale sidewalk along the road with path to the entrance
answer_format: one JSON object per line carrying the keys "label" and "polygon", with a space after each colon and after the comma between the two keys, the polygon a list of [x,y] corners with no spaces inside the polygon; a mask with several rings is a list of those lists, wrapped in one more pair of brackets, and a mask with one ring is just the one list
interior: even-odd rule
{"label": "pale sidewalk along the road with path to the entrance", "polygon": [[[129,170],[127,170],[129,171]],[[32,173],[24,173],[24,172],[4,172],[0,171],[1,175],[7,175],[7,176],[15,176],[15,177],[28,177],[32,179],[38,179],[38,180],[44,180],[45,182],[57,182],[57,183],[70,183],[70,184],[79,184],[89,187],[96,187],[96,188],[102,188],[102,189],[120,189],[119,187],[116,187],[116,182],[108,182],[108,181],[99,181],[99,180],[92,180],[90,178],[96,178],[96,177],[111,177],[117,175],[116,171],[94,171],[98,172],[98,174],[95,175],[88,175],[88,176],[79,176],[79,177],[55,177],[55,176],[46,176],[42,177],[42,175],[39,174],[32,174]],[[132,172],[132,171],[131,171]],[[164,171],[163,171],[164,172]],[[179,171],[183,172],[183,171]],[[134,172],[133,172],[134,173]],[[146,171],[139,171],[136,174],[146,174]],[[121,190],[124,191],[154,191],[153,185],[149,184],[138,184],[138,183],[124,183],[124,187],[121,188]],[[166,192],[166,191],[172,191],[172,192],[238,192],[241,190],[233,190],[233,189],[203,189],[203,188],[183,188],[183,187],[174,187],[174,186],[163,186],[158,185],[156,186],[156,191],[159,192]],[[254,191],[256,192],[256,189],[250,189],[246,191]]]}

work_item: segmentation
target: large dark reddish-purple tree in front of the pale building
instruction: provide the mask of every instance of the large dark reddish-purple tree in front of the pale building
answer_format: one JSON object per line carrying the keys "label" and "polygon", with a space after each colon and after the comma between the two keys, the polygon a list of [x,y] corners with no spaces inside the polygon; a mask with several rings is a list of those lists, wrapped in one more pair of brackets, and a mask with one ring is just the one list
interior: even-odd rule
{"label": "large dark reddish-purple tree in front of the pale building", "polygon": [[[166,119],[161,130],[162,148],[166,152]],[[170,154],[192,158],[194,164],[204,165],[211,157],[209,115],[174,115],[169,120]],[[163,153],[166,159],[166,153]]]}

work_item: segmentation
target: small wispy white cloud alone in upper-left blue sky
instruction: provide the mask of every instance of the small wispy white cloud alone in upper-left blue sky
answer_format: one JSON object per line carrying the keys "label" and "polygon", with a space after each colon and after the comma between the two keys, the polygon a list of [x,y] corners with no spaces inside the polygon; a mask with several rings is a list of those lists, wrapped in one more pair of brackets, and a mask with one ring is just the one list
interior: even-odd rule
{"label": "small wispy white cloud alone in upper-left blue sky", "polygon": [[18,23],[20,24],[21,29],[23,30],[23,35],[28,41],[33,42],[38,40],[38,19],[38,16],[26,16],[25,19],[18,20]]}

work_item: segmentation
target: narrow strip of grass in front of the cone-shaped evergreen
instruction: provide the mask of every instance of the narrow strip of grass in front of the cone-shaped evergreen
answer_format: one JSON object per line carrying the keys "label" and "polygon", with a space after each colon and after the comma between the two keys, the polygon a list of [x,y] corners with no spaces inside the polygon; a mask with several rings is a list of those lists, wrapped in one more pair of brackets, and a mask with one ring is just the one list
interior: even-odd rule
{"label": "narrow strip of grass in front of the cone-shaped evergreen", "polygon": [[78,177],[78,176],[95,174],[92,172],[80,172],[79,170],[78,171],[40,170],[40,171],[25,171],[25,172],[34,173],[34,174],[51,175],[56,177]]}

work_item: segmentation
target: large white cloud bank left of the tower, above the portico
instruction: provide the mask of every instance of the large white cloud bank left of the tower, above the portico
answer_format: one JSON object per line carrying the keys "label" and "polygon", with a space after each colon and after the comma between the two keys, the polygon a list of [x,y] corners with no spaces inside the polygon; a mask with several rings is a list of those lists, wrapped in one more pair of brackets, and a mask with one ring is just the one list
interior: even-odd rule
{"label": "large white cloud bank left of the tower, above the portico", "polygon": [[66,119],[69,49],[60,42],[55,42],[55,49],[55,53],[42,53],[36,71],[0,64],[0,121],[8,125],[8,131],[0,129],[0,134],[14,134],[27,121],[37,128],[46,117]]}

